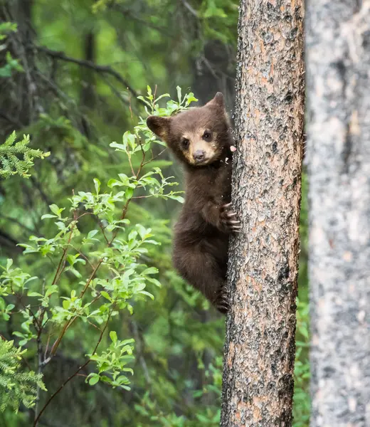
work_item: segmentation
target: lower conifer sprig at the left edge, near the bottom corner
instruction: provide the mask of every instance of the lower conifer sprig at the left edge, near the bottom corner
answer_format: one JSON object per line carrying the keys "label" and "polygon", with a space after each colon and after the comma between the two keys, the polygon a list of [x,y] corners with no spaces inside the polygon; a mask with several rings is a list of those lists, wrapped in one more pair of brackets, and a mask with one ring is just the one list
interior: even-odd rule
{"label": "lower conifer sprig at the left edge, near the bottom corner", "polygon": [[21,404],[35,404],[37,388],[46,391],[41,374],[21,369],[21,357],[26,350],[14,347],[13,341],[0,339],[0,411],[12,408],[18,412]]}

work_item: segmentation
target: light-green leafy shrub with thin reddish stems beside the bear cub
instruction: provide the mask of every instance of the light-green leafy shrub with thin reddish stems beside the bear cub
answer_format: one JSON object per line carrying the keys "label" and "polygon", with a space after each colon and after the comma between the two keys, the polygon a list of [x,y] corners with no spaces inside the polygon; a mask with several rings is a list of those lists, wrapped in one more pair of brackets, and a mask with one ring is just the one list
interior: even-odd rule
{"label": "light-green leafy shrub with thin reddish stems beside the bear cub", "polygon": [[[148,95],[144,100],[148,114],[150,111],[151,114],[171,115],[186,109],[196,100],[191,93],[182,97],[180,88],[178,94],[178,102],[169,100],[166,107],[159,107],[157,101],[169,95],[155,99],[148,87]],[[13,142],[7,142],[7,147]],[[68,329],[76,320],[80,320],[98,331],[95,347],[85,363],[86,366],[95,362],[97,373],[89,374],[88,383],[93,386],[102,381],[113,388],[129,390],[129,379],[125,372],[133,373],[126,365],[134,359],[134,339],[121,341],[117,339],[117,332],[111,331],[110,344],[106,344],[102,352],[97,352],[97,348],[112,317],[122,310],[128,310],[132,315],[135,300],[142,297],[154,299],[154,295],[146,290],[147,285],[160,286],[159,281],[152,277],[158,273],[158,269],[144,263],[144,257],[149,253],[148,246],[158,245],[159,242],[153,239],[151,228],[140,223],[132,225],[126,218],[129,203],[137,198],[182,201],[179,196],[181,191],[167,190],[167,187],[176,183],[165,178],[159,167],[144,173],[145,167],[154,159],[154,144],[162,142],[147,128],[145,120],[140,118],[132,133],[125,132],[122,144],[111,144],[116,151],[127,156],[132,176],[118,174],[119,179],[107,181],[105,191],[102,191],[100,180],[94,179],[94,191],[73,194],[69,199],[69,211],[56,204],[49,206],[51,214],[44,214],[42,219],[53,220],[55,236],[31,236],[31,244],[21,246],[25,248],[25,255],[36,254],[45,260],[43,262],[46,265],[55,258],[53,263],[57,267],[53,275],[31,277],[20,268],[14,268],[11,259],[3,267],[4,271],[0,275],[1,313],[6,321],[14,321],[17,315],[21,315],[21,330],[13,332],[20,339],[19,344],[36,344],[39,349],[44,335],[57,336],[51,349],[46,346],[48,357],[39,360],[39,368],[51,362]],[[17,145],[15,147],[18,149]],[[133,162],[137,156],[140,162],[135,171]],[[144,191],[145,195],[136,196],[138,191]],[[41,269],[47,270],[42,264]],[[69,278],[68,286],[60,287],[60,280],[65,275]],[[6,305],[4,297],[9,296],[16,297],[16,301]],[[30,300],[30,304],[19,305],[25,297]],[[11,311],[13,309],[14,312]],[[9,384],[4,379],[4,386],[9,387]],[[17,387],[21,387],[21,384],[17,384]],[[21,400],[12,403],[14,408],[18,408]]]}

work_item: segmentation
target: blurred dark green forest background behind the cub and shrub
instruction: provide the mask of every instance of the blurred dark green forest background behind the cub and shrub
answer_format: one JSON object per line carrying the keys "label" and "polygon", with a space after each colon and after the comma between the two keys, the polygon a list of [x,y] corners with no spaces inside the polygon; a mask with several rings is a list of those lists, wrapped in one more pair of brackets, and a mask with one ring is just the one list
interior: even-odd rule
{"label": "blurred dark green forest background behind the cub and shrub", "polygon": [[[137,96],[146,95],[147,85],[172,97],[179,85],[200,104],[219,90],[232,114],[237,21],[236,0],[0,0],[0,142],[16,130],[31,136],[31,148],[51,152],[35,159],[29,179],[0,181],[1,265],[14,258],[31,275],[53,274],[52,263],[22,255],[17,244],[53,235],[53,224],[40,218],[51,204],[66,206],[73,190],[87,191],[94,178],[130,174],[127,157],[109,144],[145,115]],[[156,165],[181,182],[167,152]],[[306,195],[304,179],[295,427],[308,426],[310,415]],[[151,227],[162,243],[149,251],[162,283],[149,290],[154,301],[139,301],[132,316],[112,320],[122,339],[135,339],[131,390],[90,386],[77,377],[48,406],[41,426],[218,426],[224,318],[171,268],[178,209],[176,201],[162,199],[130,206],[128,218]],[[77,282],[65,275],[59,285],[68,292]],[[6,339],[18,328],[0,320]],[[78,322],[68,330],[43,371],[49,395],[83,362],[93,332]],[[37,370],[36,347],[28,348],[24,363]],[[23,406],[18,414],[0,413],[1,426],[31,426],[30,420],[32,409]]]}

